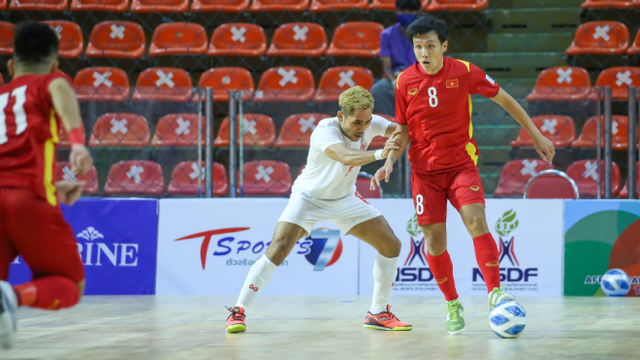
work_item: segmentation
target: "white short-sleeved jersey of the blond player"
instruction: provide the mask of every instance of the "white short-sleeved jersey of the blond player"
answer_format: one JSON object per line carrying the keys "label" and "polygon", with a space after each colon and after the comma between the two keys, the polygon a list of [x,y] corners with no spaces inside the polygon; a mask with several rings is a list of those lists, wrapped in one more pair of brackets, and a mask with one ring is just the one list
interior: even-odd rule
{"label": "white short-sleeved jersey of the blond player", "polygon": [[354,150],[367,150],[371,140],[384,136],[392,122],[382,116],[373,115],[371,125],[358,141],[351,141],[340,129],[337,117],[324,119],[311,133],[311,144],[307,165],[293,183],[292,193],[302,193],[314,199],[335,200],[356,190],[360,166],[345,166],[328,157],[324,151],[334,144],[345,144]]}

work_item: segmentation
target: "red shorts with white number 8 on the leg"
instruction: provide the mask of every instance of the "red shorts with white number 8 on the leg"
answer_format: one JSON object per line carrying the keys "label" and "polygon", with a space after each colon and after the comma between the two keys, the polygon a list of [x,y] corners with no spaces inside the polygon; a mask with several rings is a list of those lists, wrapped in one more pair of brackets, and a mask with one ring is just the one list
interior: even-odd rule
{"label": "red shorts with white number 8 on the leg", "polygon": [[411,189],[419,225],[446,222],[447,200],[458,211],[468,204],[484,205],[484,188],[475,167],[428,175],[412,172]]}

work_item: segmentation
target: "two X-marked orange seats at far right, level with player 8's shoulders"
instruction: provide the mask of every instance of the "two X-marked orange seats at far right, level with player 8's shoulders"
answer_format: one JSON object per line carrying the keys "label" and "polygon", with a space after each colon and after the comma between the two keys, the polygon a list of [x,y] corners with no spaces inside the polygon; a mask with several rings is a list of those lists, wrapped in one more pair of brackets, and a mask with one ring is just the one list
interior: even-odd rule
{"label": "two X-marked orange seats at far right, level with player 8's shoulders", "polygon": [[[595,86],[611,86],[613,100],[627,100],[628,87],[640,86],[640,67],[618,66],[605,69],[598,75]],[[527,101],[585,101],[596,98],[587,70],[573,66],[542,71],[531,94],[527,95]]]}

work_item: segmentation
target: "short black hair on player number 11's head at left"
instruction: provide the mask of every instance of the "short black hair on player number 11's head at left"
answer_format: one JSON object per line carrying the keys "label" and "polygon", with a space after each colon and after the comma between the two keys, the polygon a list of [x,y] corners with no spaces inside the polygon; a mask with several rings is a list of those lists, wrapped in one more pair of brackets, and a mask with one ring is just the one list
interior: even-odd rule
{"label": "short black hair on player number 11's head at left", "polygon": [[58,53],[58,35],[48,25],[25,22],[16,27],[13,57],[26,65],[41,65]]}

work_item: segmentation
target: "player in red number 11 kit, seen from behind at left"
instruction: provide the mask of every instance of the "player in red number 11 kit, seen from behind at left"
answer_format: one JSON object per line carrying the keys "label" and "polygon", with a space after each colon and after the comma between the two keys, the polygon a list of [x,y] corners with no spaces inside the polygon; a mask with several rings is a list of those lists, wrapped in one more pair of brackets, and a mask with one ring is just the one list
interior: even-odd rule
{"label": "player in red number 11 kit, seen from behind at left", "polygon": [[[17,307],[67,308],[84,292],[82,260],[59,205],[73,204],[83,183],[54,183],[61,126],[69,134],[73,170],[86,174],[93,160],[71,79],[57,71],[58,46],[49,26],[19,25],[8,62],[13,79],[0,87],[0,345],[5,349],[15,341]],[[12,287],[6,280],[18,255],[33,278]]]}

